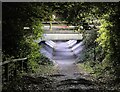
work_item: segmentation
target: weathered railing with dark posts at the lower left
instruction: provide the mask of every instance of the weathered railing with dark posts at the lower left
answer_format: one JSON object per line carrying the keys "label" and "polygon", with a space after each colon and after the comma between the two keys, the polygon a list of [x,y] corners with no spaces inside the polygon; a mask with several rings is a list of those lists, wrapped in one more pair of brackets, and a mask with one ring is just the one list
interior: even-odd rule
{"label": "weathered railing with dark posts at the lower left", "polygon": [[[17,75],[17,69],[20,69],[20,72],[26,71],[27,72],[27,58],[20,58],[20,59],[13,59],[13,60],[8,60],[4,62],[0,62],[0,66],[2,66],[2,77],[6,80],[9,81],[9,75],[11,74],[9,66],[10,64],[13,64],[12,67],[14,67],[13,70],[13,76],[16,77]],[[19,68],[18,68],[19,66]],[[3,79],[2,78],[2,79]]]}

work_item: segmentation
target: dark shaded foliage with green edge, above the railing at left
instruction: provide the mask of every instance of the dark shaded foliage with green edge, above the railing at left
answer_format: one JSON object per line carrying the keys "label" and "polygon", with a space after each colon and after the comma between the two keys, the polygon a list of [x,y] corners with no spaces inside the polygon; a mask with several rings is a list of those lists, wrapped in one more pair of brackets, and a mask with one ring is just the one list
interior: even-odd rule
{"label": "dark shaded foliage with green edge, above the railing at left", "polygon": [[27,57],[29,69],[38,68],[40,46],[35,40],[43,33],[38,8],[34,3],[3,3],[3,61]]}

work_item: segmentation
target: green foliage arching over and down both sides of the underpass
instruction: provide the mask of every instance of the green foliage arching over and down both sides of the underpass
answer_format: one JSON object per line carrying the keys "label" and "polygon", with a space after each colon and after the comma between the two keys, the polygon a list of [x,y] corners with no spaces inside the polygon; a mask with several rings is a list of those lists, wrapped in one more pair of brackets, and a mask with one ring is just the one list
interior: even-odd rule
{"label": "green foliage arching over and down both sides of the underpass", "polygon": [[[119,3],[112,2],[3,3],[3,60],[28,57],[33,70],[38,62],[48,61],[40,55],[40,47],[34,40],[42,36],[41,21],[52,20],[52,14],[56,13],[62,17],[59,19],[79,27],[82,23],[101,24],[99,30],[81,31],[85,45],[83,61],[90,62],[96,73],[109,71],[119,77],[119,8]],[[24,30],[24,26],[30,29]]]}

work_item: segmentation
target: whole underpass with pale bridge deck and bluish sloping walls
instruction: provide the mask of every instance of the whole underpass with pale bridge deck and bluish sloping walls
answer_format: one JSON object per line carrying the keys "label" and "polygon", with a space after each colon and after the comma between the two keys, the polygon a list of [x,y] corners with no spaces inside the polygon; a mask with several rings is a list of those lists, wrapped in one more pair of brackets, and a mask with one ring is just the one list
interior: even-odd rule
{"label": "whole underpass with pale bridge deck and bluish sloping walls", "polygon": [[52,30],[44,25],[42,38],[36,40],[42,48],[40,53],[48,57],[54,64],[73,64],[83,48],[83,36],[74,31],[75,26],[54,25]]}

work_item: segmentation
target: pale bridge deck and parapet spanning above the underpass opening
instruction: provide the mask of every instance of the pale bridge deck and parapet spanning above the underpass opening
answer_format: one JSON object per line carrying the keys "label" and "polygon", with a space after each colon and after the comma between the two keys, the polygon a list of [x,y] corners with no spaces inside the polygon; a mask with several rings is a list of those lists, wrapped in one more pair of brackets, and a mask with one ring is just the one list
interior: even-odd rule
{"label": "pale bridge deck and parapet spanning above the underpass opening", "polygon": [[44,26],[43,37],[37,40],[37,42],[47,40],[82,40],[83,36],[79,32],[75,31],[75,26],[53,26],[52,30],[49,26]]}

